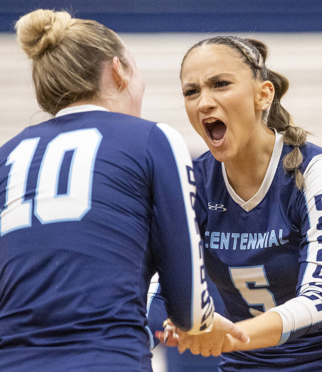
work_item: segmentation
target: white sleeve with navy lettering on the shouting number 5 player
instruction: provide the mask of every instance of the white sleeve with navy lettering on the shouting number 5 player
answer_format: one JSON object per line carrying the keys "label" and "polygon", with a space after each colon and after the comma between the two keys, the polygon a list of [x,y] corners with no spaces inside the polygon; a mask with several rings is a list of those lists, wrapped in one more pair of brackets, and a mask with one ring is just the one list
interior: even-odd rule
{"label": "white sleeve with navy lettering on the shouting number 5 player", "polygon": [[279,344],[322,328],[322,155],[312,158],[303,176],[305,189],[297,201],[303,238],[297,296],[269,310],[283,321]]}

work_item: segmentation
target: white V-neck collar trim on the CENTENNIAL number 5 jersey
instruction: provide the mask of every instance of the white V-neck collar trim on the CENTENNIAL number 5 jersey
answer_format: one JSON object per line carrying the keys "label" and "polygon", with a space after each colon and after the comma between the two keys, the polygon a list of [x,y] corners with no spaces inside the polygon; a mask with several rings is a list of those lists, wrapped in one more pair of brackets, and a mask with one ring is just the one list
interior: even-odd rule
{"label": "white V-neck collar trim on the CENTENNIAL number 5 jersey", "polygon": [[257,193],[249,199],[248,202],[245,202],[242,198],[240,198],[234,191],[234,189],[229,185],[227,174],[226,174],[226,169],[224,164],[222,163],[222,174],[223,174],[223,179],[225,180],[225,184],[227,187],[227,190],[232,197],[232,199],[242,207],[246,212],[251,211],[251,209],[255,208],[263,199],[264,196],[267,194],[268,189],[271,186],[271,183],[273,181],[273,178],[276,173],[276,169],[278,166],[278,162],[280,160],[282,150],[283,150],[283,145],[284,142],[282,140],[283,135],[275,131],[275,143],[274,143],[274,149],[272,153],[272,157],[270,160],[270,164],[268,164],[267,172],[265,174],[263,183],[261,184],[260,189],[257,191]]}

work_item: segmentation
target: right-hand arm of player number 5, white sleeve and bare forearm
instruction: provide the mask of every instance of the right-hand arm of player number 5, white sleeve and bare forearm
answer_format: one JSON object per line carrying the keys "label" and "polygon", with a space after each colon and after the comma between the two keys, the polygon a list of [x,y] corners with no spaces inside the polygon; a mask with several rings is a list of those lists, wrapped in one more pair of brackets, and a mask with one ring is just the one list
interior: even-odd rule
{"label": "right-hand arm of player number 5, white sleeve and bare forearm", "polygon": [[226,350],[249,350],[283,344],[322,328],[322,155],[314,157],[303,174],[305,190],[299,193],[302,243],[297,296],[263,315],[238,324],[247,330],[250,343],[227,337]]}

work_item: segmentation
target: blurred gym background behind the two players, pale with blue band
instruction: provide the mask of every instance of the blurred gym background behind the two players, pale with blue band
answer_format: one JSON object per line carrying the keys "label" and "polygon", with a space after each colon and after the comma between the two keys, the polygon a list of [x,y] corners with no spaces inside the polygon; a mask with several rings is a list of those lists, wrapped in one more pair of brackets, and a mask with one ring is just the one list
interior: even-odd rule
{"label": "blurred gym background behind the two players, pale with blue band", "polygon": [[[49,118],[33,93],[30,62],[16,45],[14,25],[38,9],[67,10],[113,29],[128,45],[146,90],[142,117],[165,122],[186,139],[192,157],[207,150],[184,110],[179,71],[185,52],[211,36],[232,34],[264,41],[269,68],[289,78],[282,104],[296,125],[322,146],[322,1],[309,0],[0,0],[0,145],[28,125]],[[213,295],[218,298],[216,289]],[[218,309],[222,311],[220,299]],[[216,358],[179,356],[158,346],[154,372],[216,372]]]}

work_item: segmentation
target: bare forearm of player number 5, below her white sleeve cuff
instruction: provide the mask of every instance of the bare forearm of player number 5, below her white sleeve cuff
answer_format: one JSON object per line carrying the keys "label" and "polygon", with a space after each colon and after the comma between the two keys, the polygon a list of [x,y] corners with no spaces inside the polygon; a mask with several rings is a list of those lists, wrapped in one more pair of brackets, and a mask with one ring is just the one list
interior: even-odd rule
{"label": "bare forearm of player number 5, below her white sleeve cuff", "polygon": [[252,350],[275,346],[281,338],[283,324],[277,312],[265,312],[257,317],[235,323],[239,329],[248,334],[249,343],[242,343],[230,335],[223,344],[222,352],[235,350]]}

